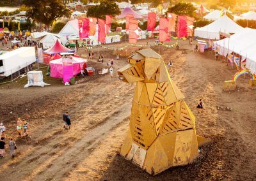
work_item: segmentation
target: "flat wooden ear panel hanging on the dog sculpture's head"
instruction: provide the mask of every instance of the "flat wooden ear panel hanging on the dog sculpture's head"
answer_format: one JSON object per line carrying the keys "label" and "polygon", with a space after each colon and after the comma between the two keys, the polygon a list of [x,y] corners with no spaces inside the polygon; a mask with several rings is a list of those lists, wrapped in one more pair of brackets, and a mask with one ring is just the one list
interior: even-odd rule
{"label": "flat wooden ear panel hanging on the dog sculpture's head", "polygon": [[148,80],[156,73],[157,68],[159,68],[161,64],[161,59],[154,59],[154,58],[145,58],[145,67],[144,73]]}

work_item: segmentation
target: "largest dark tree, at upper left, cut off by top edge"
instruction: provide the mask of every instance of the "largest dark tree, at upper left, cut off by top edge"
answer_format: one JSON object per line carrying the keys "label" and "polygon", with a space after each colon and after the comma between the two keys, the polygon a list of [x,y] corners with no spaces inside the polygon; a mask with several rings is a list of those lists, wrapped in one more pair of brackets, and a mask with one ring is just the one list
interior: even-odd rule
{"label": "largest dark tree, at upper left, cut off by top edge", "polygon": [[23,3],[28,7],[26,13],[28,18],[47,26],[51,25],[56,18],[70,17],[71,14],[61,0],[24,0]]}

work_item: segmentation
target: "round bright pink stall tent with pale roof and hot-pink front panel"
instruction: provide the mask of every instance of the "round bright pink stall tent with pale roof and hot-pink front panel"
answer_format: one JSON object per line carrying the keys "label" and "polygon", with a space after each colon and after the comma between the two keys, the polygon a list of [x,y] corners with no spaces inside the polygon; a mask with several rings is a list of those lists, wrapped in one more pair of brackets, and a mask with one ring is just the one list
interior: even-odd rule
{"label": "round bright pink stall tent with pale roof and hot-pink front panel", "polygon": [[[50,71],[51,71],[51,77],[54,78],[63,78],[63,82],[67,82],[64,80],[69,80],[73,76],[77,75],[78,73],[81,72],[83,69],[83,64],[86,62],[86,59],[81,59],[78,57],[70,57],[70,58],[65,58],[62,57],[61,59],[56,59],[54,61],[50,62]],[[72,73],[68,73],[68,75],[65,75],[66,72],[64,71],[65,69],[71,69]],[[68,76],[68,77],[67,77]]]}

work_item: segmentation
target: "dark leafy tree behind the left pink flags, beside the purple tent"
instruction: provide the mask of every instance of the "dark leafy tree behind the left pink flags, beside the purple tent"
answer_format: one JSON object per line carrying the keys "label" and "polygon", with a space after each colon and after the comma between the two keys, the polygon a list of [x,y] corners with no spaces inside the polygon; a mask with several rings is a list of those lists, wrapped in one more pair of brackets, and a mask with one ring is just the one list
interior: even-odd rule
{"label": "dark leafy tree behind the left pink flags, beside the purple tent", "polygon": [[90,6],[87,11],[87,17],[95,17],[105,19],[106,15],[120,15],[119,10],[115,1],[102,1],[99,5]]}

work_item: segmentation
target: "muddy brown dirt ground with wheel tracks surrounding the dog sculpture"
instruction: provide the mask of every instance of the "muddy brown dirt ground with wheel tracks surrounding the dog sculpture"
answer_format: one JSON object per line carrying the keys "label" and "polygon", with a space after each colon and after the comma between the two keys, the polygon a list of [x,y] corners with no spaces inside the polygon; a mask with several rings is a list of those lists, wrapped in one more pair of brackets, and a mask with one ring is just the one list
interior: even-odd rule
{"label": "muddy brown dirt ground with wheel tracks surrounding the dog sculpture", "polygon": [[[196,116],[197,134],[212,140],[200,148],[194,163],[152,177],[118,155],[129,126],[134,92],[134,85],[120,82],[116,75],[116,70],[127,64],[123,57],[115,61],[114,78],[97,75],[77,85],[51,83],[28,89],[1,85],[0,121],[18,149],[14,159],[8,149],[0,159],[0,180],[255,180],[256,90],[250,89],[248,77],[240,77],[236,91],[223,92],[223,82],[236,70],[215,61],[211,53],[193,52],[188,41],[180,41],[179,47],[186,52],[153,48],[165,62],[172,60],[170,75]],[[114,58],[113,50],[100,49],[100,53],[106,59]],[[106,63],[88,64],[100,69]],[[195,108],[200,98],[205,105],[202,112]],[[219,111],[216,106],[233,110]],[[63,129],[61,120],[66,111],[72,120],[69,131]],[[29,122],[27,138],[17,138],[17,117]]]}

